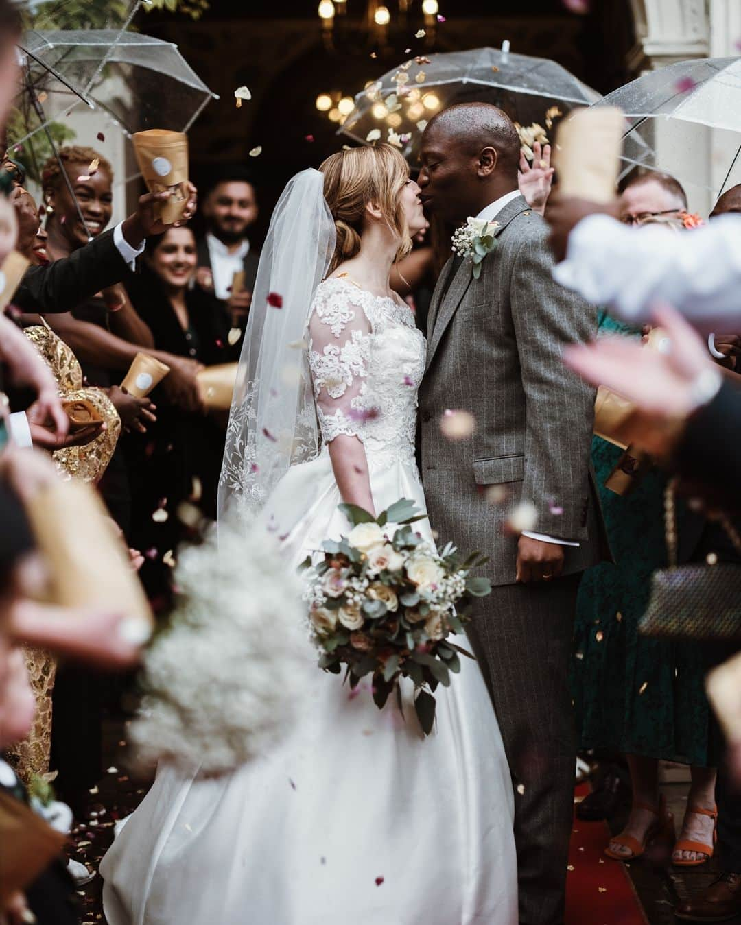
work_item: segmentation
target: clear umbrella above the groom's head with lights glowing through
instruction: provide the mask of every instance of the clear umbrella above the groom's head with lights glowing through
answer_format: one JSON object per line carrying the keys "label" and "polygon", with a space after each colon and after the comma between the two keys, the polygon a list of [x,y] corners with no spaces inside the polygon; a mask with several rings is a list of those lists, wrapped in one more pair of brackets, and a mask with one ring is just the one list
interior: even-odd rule
{"label": "clear umbrella above the groom's head with lights glowing through", "polygon": [[402,137],[408,156],[414,154],[426,120],[453,103],[492,103],[523,125],[542,125],[552,106],[565,114],[598,99],[599,93],[560,64],[515,55],[505,42],[501,49],[419,56],[389,70],[355,96],[340,132],[366,142],[374,129],[382,141],[390,130]]}

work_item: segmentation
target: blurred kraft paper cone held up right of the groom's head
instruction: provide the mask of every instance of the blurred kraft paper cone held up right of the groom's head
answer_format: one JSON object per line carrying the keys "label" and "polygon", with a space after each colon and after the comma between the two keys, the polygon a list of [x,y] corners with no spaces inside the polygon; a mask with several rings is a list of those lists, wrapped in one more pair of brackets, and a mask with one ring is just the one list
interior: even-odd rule
{"label": "blurred kraft paper cone held up right of the groom's head", "polygon": [[593,203],[615,198],[625,117],[615,106],[576,109],[559,124],[553,164],[562,196]]}

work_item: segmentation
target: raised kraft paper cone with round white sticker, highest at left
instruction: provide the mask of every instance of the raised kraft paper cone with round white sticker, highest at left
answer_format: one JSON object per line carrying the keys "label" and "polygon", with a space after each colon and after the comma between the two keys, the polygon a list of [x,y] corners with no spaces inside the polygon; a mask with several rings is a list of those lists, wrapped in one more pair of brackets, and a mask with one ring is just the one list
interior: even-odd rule
{"label": "raised kraft paper cone with round white sticker, highest at left", "polygon": [[188,136],[180,131],[149,129],[133,135],[134,151],[142,177],[150,192],[169,192],[157,203],[166,225],[179,221],[188,203]]}

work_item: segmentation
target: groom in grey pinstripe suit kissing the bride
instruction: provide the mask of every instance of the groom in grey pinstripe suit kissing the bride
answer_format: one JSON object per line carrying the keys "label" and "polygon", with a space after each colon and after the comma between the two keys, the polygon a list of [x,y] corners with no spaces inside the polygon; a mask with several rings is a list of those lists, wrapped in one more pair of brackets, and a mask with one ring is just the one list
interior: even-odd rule
{"label": "groom in grey pinstripe suit kissing the bride", "polygon": [[[595,396],[561,354],[595,336],[597,313],[553,280],[548,229],[517,189],[519,157],[512,121],[492,105],[451,106],[422,138],[426,210],[451,227],[468,216],[496,223],[480,277],[470,257],[451,258],[430,305],[422,476],[440,543],[490,557],[494,590],[468,633],[513,776],[520,923],[561,925],[574,609],[580,575],[601,549],[589,460]],[[446,438],[440,422],[458,410],[473,414],[474,431]],[[533,523],[508,528],[521,501],[535,505]]]}

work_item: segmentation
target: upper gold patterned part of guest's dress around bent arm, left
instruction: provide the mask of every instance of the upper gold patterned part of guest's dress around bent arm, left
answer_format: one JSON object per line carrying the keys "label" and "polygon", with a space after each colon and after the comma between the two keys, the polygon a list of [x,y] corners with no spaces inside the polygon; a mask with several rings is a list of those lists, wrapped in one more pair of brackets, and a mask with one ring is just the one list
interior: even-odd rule
{"label": "upper gold patterned part of guest's dress around bent arm, left", "polygon": [[68,478],[79,478],[83,482],[95,483],[105,473],[116,450],[118,435],[121,432],[121,421],[116,408],[102,388],[83,387],[82,370],[77,357],[51,328],[34,325],[25,328],[24,334],[41,353],[44,363],[51,369],[63,400],[85,399],[90,401],[105,421],[105,430],[90,443],[86,443],[83,447],[56,450],[52,454],[52,459],[62,475]]}

